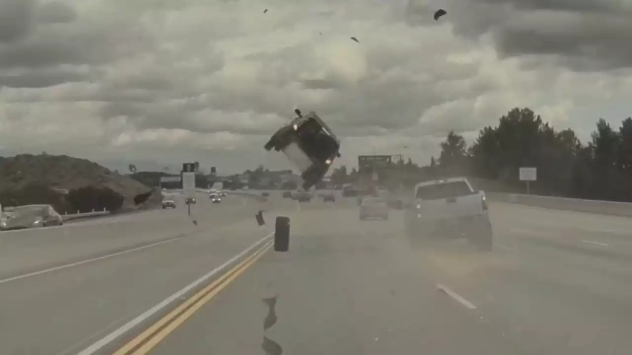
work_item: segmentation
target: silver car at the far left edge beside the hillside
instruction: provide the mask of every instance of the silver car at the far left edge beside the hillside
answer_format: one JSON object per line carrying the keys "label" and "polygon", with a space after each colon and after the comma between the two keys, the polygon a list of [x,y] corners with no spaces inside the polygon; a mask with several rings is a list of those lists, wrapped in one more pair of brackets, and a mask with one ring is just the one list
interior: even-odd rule
{"label": "silver car at the far left edge beside the hillside", "polygon": [[13,214],[0,222],[0,230],[62,226],[64,220],[51,205],[25,205],[13,208]]}

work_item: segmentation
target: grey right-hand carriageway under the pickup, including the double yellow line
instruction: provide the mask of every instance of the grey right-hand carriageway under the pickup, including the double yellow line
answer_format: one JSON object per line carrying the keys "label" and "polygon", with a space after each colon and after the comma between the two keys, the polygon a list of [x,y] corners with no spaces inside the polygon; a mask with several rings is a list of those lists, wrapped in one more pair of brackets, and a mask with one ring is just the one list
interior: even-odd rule
{"label": "grey right-hand carriageway under the pickup, including the double yellow line", "polygon": [[[478,253],[459,242],[411,248],[401,213],[360,222],[345,205],[301,205],[289,253],[237,269],[130,353],[265,353],[264,335],[288,354],[632,349],[631,219],[494,203],[497,248]],[[264,332],[262,299],[273,296],[277,322]]]}

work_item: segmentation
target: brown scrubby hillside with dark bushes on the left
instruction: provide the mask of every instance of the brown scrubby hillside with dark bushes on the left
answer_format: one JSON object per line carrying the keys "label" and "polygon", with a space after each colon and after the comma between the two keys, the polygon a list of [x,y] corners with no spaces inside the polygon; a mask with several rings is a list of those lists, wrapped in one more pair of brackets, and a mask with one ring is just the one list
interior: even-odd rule
{"label": "brown scrubby hillside with dark bushes on the left", "polygon": [[86,159],[67,155],[0,157],[0,204],[50,204],[58,212],[154,208],[161,191]]}

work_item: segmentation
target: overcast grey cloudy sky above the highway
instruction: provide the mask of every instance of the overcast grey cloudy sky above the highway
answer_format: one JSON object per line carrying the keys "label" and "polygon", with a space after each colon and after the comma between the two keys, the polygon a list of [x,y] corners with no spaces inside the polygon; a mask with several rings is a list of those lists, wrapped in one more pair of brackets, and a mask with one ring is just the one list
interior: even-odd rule
{"label": "overcast grey cloudy sky above the highway", "polygon": [[0,0],[0,155],[285,168],[263,145],[296,107],[349,165],[425,163],[516,106],[586,139],[632,115],[631,18],[629,0]]}

